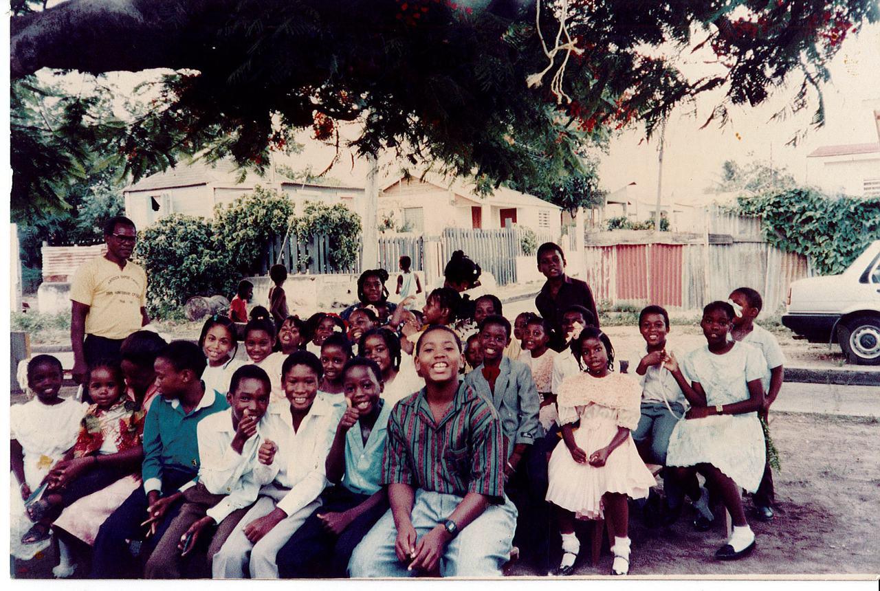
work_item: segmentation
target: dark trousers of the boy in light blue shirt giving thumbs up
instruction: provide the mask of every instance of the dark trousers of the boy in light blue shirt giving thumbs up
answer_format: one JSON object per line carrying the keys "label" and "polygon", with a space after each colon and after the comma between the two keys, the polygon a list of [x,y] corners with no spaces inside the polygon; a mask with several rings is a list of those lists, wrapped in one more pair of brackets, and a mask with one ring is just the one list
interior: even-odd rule
{"label": "dark trousers of the boy in light blue shirt giving thumbs up", "polygon": [[342,485],[328,488],[322,495],[322,505],[305,520],[297,533],[282,546],[275,558],[282,579],[343,578],[347,576],[348,560],[355,546],[388,510],[385,497],[376,507],[348,524],[340,536],[328,532],[318,515],[341,513],[357,507],[370,495],[356,494]]}

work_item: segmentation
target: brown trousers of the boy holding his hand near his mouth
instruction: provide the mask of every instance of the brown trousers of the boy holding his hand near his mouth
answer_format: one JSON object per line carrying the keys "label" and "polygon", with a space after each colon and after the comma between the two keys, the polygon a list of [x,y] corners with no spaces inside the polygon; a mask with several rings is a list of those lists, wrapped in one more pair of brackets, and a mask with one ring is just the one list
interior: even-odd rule
{"label": "brown trousers of the boy holding his hand near his mouth", "polygon": [[[223,500],[224,496],[223,494],[211,494],[201,482],[183,492],[184,503],[180,507],[180,513],[165,530],[165,535],[159,540],[156,549],[150,554],[143,569],[145,579],[181,579],[184,578],[182,576],[184,571],[189,577],[210,578],[211,561],[214,559],[214,555],[220,550],[226,538],[230,536],[232,530],[235,529],[250,507],[233,511],[217,525],[216,532],[208,546],[207,557],[204,557],[199,551],[193,551],[187,554],[186,558],[180,558],[177,544],[180,543],[180,538],[187,533],[187,529],[194,522],[202,519],[208,509]],[[203,529],[201,536],[210,536],[210,531],[211,529]],[[199,545],[202,546],[202,544]],[[200,559],[200,555],[206,559]]]}

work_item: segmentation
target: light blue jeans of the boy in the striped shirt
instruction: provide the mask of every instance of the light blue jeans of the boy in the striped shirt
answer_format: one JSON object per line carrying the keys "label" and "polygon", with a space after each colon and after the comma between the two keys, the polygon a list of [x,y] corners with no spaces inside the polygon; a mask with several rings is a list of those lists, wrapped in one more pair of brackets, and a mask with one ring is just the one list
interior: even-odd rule
{"label": "light blue jeans of the boy in the striped shirt", "polygon": [[[449,519],[461,499],[456,494],[416,490],[412,513],[416,536],[421,538],[437,523]],[[510,500],[505,499],[503,505],[489,505],[446,546],[444,556],[440,558],[440,576],[501,576],[501,568],[510,558],[516,528],[517,507]],[[397,558],[394,551],[396,539],[397,528],[392,510],[388,509],[370,529],[370,533],[357,544],[348,563],[348,573],[358,578],[412,577],[419,574],[407,571],[407,565]]]}

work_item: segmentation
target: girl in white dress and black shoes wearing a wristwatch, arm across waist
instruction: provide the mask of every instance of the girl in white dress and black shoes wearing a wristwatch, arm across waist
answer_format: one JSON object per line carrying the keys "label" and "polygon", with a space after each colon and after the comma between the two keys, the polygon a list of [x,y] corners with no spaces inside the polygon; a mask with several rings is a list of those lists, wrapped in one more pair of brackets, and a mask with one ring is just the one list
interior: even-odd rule
{"label": "girl in white dress and black shoes wearing a wristwatch, arm across waist", "polygon": [[728,341],[734,310],[730,303],[713,302],[703,309],[700,326],[707,346],[687,355],[688,383],[673,355],[664,366],[675,376],[691,403],[672,430],[666,465],[678,466],[679,482],[700,471],[722,494],[730,512],[733,533],[715,558],[732,560],[752,551],[755,535],[745,521],[740,486],[755,492],[764,474],[764,432],[757,411],[764,402],[761,378],[764,355],[746,343]]}

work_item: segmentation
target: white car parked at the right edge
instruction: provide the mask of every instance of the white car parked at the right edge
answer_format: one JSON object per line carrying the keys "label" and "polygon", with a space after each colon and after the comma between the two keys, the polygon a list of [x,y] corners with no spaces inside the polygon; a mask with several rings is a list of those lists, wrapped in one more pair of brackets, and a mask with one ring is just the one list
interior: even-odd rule
{"label": "white car parked at the right edge", "polygon": [[880,365],[880,240],[840,275],[794,281],[782,324],[811,343],[840,343],[850,363]]}

